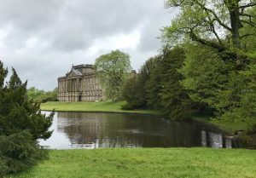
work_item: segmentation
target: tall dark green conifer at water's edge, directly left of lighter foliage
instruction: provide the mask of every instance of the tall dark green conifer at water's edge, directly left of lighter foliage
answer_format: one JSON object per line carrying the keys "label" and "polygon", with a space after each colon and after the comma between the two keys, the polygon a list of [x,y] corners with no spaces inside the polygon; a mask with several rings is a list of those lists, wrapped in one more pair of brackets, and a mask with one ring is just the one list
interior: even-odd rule
{"label": "tall dark green conifer at water's edge, directly left of lighter foliage", "polygon": [[172,119],[190,118],[191,100],[180,81],[183,75],[178,70],[183,66],[185,53],[182,48],[176,47],[164,55],[160,85],[160,104]]}

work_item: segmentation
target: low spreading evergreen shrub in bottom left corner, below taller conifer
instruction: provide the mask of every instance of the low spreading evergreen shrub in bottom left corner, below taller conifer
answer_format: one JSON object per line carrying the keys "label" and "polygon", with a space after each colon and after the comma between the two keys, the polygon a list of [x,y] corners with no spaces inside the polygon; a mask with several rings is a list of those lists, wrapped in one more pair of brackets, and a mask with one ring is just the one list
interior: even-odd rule
{"label": "low spreading evergreen shrub in bottom left corner, below taller conifer", "polygon": [[[32,135],[22,131],[13,135],[0,136],[0,176],[31,167],[45,158],[44,149],[32,140]],[[1,161],[2,160],[2,161]]]}

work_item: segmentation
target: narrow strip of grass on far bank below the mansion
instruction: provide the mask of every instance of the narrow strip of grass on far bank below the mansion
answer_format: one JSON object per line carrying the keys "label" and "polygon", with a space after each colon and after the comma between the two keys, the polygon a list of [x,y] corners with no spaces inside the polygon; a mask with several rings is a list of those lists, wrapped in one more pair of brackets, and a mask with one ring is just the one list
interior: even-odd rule
{"label": "narrow strip of grass on far bank below the mansion", "polygon": [[150,113],[160,115],[160,112],[153,110],[122,110],[121,106],[125,105],[125,101],[119,102],[46,102],[41,104],[44,111],[61,111],[61,112],[136,112]]}

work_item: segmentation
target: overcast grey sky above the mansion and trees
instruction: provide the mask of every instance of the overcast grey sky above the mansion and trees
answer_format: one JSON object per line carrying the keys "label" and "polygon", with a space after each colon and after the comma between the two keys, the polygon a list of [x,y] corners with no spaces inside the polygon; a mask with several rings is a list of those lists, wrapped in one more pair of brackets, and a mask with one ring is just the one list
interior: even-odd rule
{"label": "overcast grey sky above the mansion and trees", "polygon": [[139,69],[176,14],[164,0],[0,0],[0,60],[28,87],[54,89],[72,65],[114,49]]}

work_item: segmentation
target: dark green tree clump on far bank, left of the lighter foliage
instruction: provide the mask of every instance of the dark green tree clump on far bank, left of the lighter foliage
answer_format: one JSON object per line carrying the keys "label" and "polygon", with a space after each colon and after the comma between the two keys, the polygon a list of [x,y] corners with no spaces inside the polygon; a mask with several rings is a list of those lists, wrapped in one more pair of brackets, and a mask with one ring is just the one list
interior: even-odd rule
{"label": "dark green tree clump on far bank, left of the lighter foliage", "polygon": [[172,119],[189,118],[191,102],[178,72],[184,58],[183,49],[177,47],[148,59],[137,76],[126,81],[123,95],[127,104],[123,108],[151,108]]}

